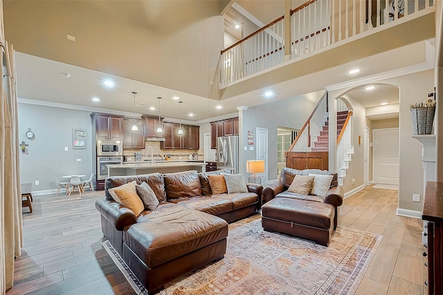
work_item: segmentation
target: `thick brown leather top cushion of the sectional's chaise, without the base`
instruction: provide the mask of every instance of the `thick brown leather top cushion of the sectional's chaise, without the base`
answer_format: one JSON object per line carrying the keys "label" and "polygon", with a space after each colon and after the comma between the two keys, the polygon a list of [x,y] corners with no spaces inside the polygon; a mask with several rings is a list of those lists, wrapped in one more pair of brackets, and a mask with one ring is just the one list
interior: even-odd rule
{"label": "thick brown leather top cushion of the sectional's chaise, without the base", "polygon": [[221,218],[173,206],[152,211],[143,222],[129,226],[123,242],[153,268],[227,236],[228,223]]}

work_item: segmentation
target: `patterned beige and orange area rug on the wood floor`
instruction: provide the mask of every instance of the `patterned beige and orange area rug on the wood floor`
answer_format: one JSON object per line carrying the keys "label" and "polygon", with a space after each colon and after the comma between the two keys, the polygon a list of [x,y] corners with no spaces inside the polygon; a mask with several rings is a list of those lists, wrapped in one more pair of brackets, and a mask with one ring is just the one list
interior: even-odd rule
{"label": "patterned beige and orange area rug on the wood floor", "polygon": [[[172,281],[159,294],[353,294],[382,238],[338,226],[323,247],[263,231],[260,219],[246,222],[230,224],[224,259]],[[143,287],[136,292],[146,294]]]}

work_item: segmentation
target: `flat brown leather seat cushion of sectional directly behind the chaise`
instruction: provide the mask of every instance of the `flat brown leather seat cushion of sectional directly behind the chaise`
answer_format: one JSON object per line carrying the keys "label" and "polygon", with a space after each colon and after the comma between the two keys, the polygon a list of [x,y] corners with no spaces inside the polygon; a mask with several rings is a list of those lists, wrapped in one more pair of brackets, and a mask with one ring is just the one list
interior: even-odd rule
{"label": "flat brown leather seat cushion of sectional directly behind the chaise", "polygon": [[169,202],[212,215],[220,215],[233,211],[233,204],[229,199],[215,199],[205,195],[181,199],[170,199]]}

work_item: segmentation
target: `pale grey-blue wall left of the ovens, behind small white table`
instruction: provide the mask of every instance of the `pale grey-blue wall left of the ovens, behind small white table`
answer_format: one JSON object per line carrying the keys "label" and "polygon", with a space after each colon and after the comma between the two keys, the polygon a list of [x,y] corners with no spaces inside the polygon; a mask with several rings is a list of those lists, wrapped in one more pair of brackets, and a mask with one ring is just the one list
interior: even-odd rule
{"label": "pale grey-blue wall left of the ovens, behind small white table", "polygon": [[[92,161],[91,111],[46,107],[20,103],[19,143],[29,146],[26,153],[20,152],[21,183],[32,183],[33,192],[51,193],[56,190],[54,176],[62,181],[62,175],[91,175],[95,172]],[[29,140],[25,133],[30,127],[35,138]],[[72,129],[86,129],[86,149],[73,150]],[[68,147],[68,152],[64,151]],[[81,161],[77,161],[81,159]],[[39,181],[39,186],[35,181]]]}

